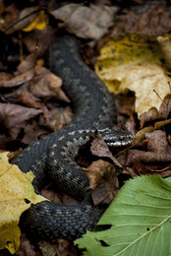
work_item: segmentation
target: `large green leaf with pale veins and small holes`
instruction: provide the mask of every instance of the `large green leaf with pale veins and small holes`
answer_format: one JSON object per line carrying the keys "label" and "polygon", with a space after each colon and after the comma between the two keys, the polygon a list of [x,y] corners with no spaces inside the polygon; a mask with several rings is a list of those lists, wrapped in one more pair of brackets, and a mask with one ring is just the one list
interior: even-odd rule
{"label": "large green leaf with pale veins and small holes", "polygon": [[171,255],[171,177],[141,176],[126,182],[98,225],[75,241],[84,255]]}

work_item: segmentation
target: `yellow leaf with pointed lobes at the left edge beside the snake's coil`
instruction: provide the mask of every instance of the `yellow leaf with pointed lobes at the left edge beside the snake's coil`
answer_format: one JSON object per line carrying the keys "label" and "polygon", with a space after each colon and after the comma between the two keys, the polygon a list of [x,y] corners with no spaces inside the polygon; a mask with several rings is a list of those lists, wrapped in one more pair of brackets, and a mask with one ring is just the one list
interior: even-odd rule
{"label": "yellow leaf with pointed lobes at the left edge beside the snake's coil", "polygon": [[8,162],[8,153],[0,154],[0,249],[12,254],[20,246],[20,217],[31,204],[46,200],[34,193],[31,181],[34,175],[22,172],[17,165]]}

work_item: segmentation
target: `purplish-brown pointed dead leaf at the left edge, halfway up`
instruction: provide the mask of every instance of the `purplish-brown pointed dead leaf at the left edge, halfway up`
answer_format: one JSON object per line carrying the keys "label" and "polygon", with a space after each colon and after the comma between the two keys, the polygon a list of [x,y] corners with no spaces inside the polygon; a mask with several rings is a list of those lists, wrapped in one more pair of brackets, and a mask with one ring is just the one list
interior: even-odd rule
{"label": "purplish-brown pointed dead leaf at the left edge, halfway up", "polygon": [[8,129],[10,136],[16,139],[25,127],[26,121],[42,113],[40,109],[21,105],[0,103],[0,121]]}

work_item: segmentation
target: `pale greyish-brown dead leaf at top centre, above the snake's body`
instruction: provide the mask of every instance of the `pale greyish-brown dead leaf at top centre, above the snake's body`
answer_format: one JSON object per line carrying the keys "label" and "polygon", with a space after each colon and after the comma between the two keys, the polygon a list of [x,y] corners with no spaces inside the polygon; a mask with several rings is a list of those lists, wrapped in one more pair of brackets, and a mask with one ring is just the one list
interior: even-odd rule
{"label": "pale greyish-brown dead leaf at top centre, above the snake's body", "polygon": [[75,33],[79,37],[98,39],[112,25],[117,7],[82,4],[68,4],[51,14],[58,20],[64,22],[68,32]]}

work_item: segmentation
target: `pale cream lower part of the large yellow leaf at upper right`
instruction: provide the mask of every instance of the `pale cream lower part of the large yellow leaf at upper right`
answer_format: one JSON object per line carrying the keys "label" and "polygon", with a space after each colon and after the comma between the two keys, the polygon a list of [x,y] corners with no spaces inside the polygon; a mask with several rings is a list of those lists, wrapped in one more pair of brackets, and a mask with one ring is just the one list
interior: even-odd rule
{"label": "pale cream lower part of the large yellow leaf at upper right", "polygon": [[[171,78],[157,64],[144,63],[142,66],[136,64],[121,65],[113,71],[113,80],[121,82],[118,93],[128,90],[136,95],[135,110],[139,116],[155,107],[158,111],[161,106],[161,98],[171,94],[168,82]],[[157,96],[153,90],[157,92]]]}

